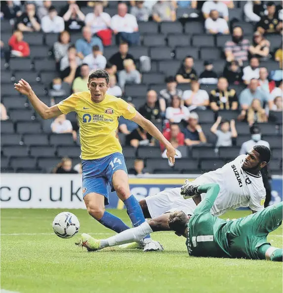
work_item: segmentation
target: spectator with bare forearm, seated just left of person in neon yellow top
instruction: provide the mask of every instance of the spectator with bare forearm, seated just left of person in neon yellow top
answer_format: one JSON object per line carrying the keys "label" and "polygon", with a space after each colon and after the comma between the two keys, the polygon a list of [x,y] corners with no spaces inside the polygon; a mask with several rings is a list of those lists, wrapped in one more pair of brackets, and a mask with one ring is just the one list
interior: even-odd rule
{"label": "spectator with bare forearm, seated just left of person in neon yellow top", "polygon": [[68,48],[68,53],[60,61],[60,72],[63,81],[73,83],[74,79],[80,76],[81,59],[77,56],[77,50],[75,46]]}

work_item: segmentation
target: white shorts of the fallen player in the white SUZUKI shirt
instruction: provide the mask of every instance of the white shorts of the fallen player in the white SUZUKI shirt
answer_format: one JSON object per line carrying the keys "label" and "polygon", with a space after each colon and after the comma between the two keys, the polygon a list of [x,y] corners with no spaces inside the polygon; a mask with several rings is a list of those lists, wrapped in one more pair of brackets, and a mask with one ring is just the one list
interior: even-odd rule
{"label": "white shorts of the fallen player in the white SUZUKI shirt", "polygon": [[186,215],[193,215],[197,207],[194,200],[184,199],[181,188],[166,189],[145,198],[151,218],[156,218],[164,213],[182,211]]}

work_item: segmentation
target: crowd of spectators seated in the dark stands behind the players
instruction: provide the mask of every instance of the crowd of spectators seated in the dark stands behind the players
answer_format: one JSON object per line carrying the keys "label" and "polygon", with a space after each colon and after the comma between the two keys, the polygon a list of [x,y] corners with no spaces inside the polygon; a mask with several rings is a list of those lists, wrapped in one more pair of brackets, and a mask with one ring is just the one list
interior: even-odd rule
{"label": "crowd of spectators seated in the dark stands behind the players", "polygon": [[[11,87],[1,93],[1,120],[20,120],[13,120],[6,96],[15,96],[11,84],[25,78],[21,72],[35,73],[27,80],[40,85],[39,97],[54,105],[87,91],[88,73],[105,69],[108,93],[156,124],[176,147],[176,158],[188,157],[182,147],[210,147],[216,155],[221,147],[240,147],[238,127],[241,137],[249,127],[272,124],[271,134],[280,136],[282,1],[22,2],[1,1],[1,88]],[[31,68],[18,69],[21,60]],[[2,79],[3,73],[10,79]],[[74,116],[61,115],[47,127],[79,144]],[[150,146],[166,157],[136,123],[121,117],[118,131],[135,155]],[[72,169],[66,158],[60,164],[57,171]],[[132,174],[145,166],[138,158]]]}

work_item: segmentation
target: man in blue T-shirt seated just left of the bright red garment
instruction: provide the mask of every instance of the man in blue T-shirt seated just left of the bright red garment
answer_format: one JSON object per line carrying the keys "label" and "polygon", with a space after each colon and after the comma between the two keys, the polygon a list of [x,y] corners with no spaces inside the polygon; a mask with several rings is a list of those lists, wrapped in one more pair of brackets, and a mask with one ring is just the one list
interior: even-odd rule
{"label": "man in blue T-shirt seated just left of the bright red garment", "polygon": [[85,56],[92,53],[93,46],[97,45],[99,50],[103,52],[103,44],[99,37],[92,37],[89,27],[82,28],[82,38],[76,41],[76,49],[78,56],[83,59]]}

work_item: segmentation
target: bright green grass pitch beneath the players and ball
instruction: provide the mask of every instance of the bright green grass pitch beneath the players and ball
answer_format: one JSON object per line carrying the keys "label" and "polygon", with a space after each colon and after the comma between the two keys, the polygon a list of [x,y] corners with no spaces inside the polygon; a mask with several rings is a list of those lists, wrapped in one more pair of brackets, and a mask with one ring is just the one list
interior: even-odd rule
{"label": "bright green grass pitch beneath the players and ball", "polygon": [[[86,253],[74,245],[76,237],[61,239],[52,234],[52,220],[59,212],[1,210],[1,289],[20,293],[282,292],[282,263],[190,257],[185,239],[171,232],[153,234],[164,252],[108,248]],[[85,210],[71,212],[81,222],[80,232],[97,238],[114,234]],[[124,210],[111,212],[129,224]],[[245,214],[235,211],[225,218]],[[282,247],[282,226],[270,234],[269,241]]]}

